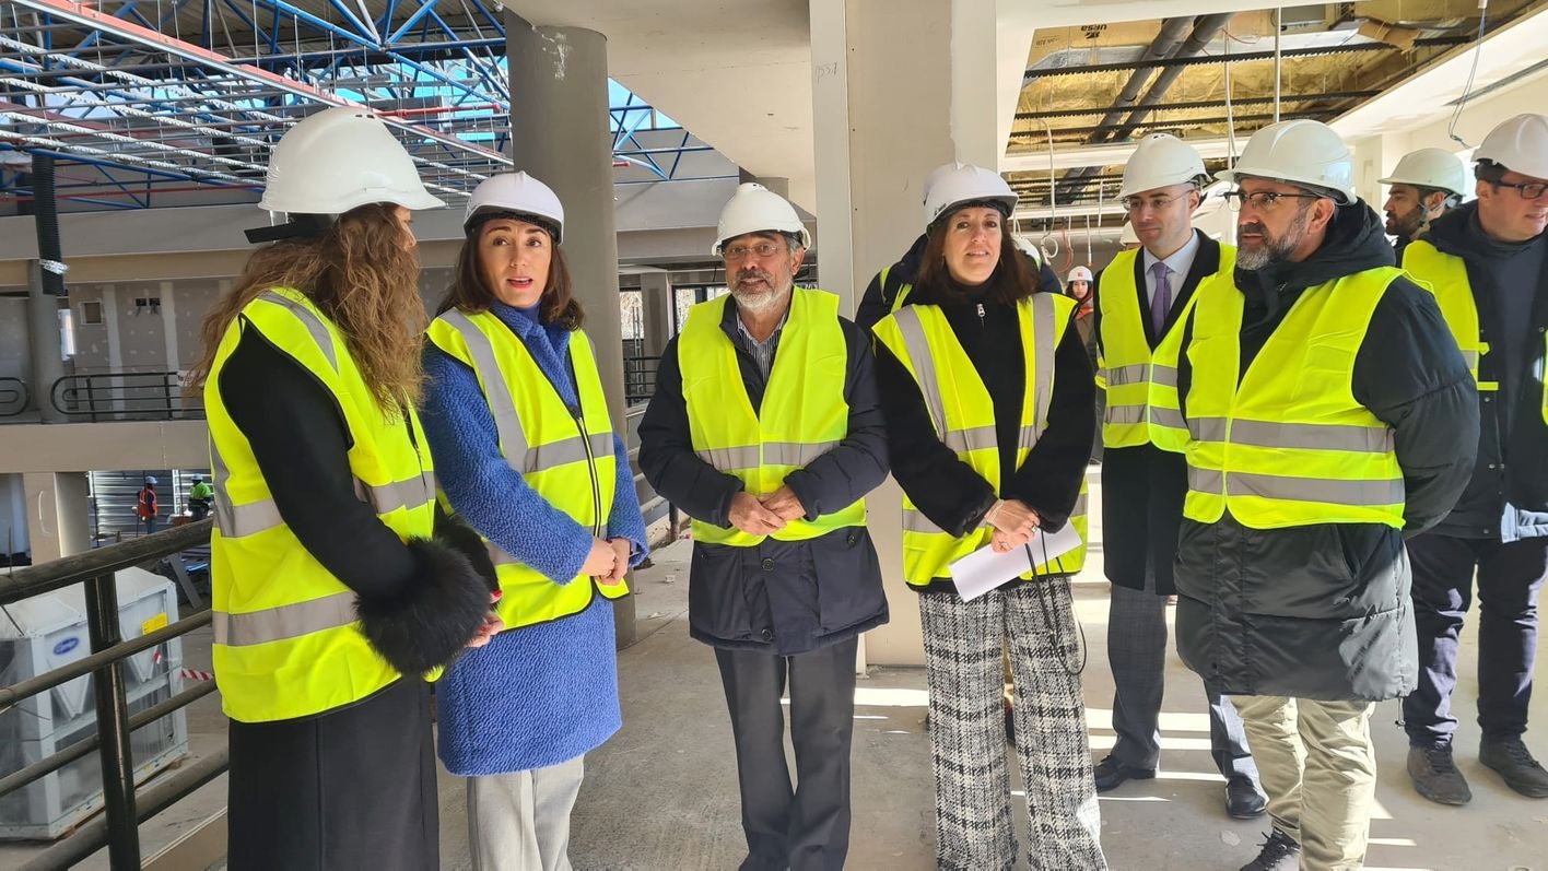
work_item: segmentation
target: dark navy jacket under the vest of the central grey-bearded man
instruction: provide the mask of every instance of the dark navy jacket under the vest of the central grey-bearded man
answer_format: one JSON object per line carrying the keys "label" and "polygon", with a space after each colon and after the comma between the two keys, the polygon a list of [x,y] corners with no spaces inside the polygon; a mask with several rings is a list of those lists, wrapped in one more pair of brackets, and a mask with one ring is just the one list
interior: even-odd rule
{"label": "dark navy jacket under the vest of the central grey-bearded man", "polygon": [[[848,348],[844,399],[850,429],[837,447],[791,472],[785,484],[807,509],[807,520],[848,507],[887,478],[887,436],[876,401],[870,342],[839,319]],[[737,306],[720,325],[737,348],[748,401],[757,410],[766,387],[757,362],[737,342]],[[774,360],[785,353],[776,345]],[[811,377],[834,373],[808,371]],[[658,494],[694,520],[731,528],[731,500],[741,480],[694,452],[678,343],[672,339],[656,370],[656,393],[639,421],[639,470]],[[694,545],[689,569],[689,634],[723,648],[805,653],[850,639],[887,622],[876,548],[864,526],[837,529],[810,541],[766,538],[754,548]]]}

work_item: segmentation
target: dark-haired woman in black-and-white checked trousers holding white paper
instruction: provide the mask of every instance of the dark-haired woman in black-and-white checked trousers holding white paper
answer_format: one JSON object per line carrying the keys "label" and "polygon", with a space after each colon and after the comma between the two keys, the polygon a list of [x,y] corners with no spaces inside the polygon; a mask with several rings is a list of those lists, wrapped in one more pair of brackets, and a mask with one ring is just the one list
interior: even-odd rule
{"label": "dark-haired woman in black-and-white checked trousers holding white paper", "polygon": [[1068,576],[1084,546],[963,600],[950,563],[1073,524],[1085,538],[1094,384],[1074,300],[1039,289],[994,172],[947,164],[926,183],[918,274],[873,328],[893,475],[904,492],[904,579],[920,593],[930,687],[937,865],[1011,868],[1015,834],[1002,730],[1002,644],[1033,868],[1105,868],[1081,701]]}

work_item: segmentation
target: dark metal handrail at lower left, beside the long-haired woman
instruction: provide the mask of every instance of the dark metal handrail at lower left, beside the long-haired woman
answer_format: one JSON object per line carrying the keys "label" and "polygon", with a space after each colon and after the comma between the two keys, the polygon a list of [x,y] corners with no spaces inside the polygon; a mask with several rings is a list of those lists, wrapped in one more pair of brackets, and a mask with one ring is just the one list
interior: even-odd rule
{"label": "dark metal handrail at lower left, beside the long-haired woman", "polygon": [[161,778],[144,792],[135,792],[135,757],[130,733],[214,692],[214,684],[187,688],[135,716],[128,715],[122,662],[128,656],[183,636],[211,622],[211,613],[200,611],[153,633],[124,640],[119,634],[118,585],[113,572],[209,543],[214,520],[175,526],[164,532],[99,548],[39,566],[28,566],[0,577],[0,605],[11,605],[33,596],[85,585],[87,634],[91,654],[37,675],[9,687],[0,687],[0,707],[46,692],[74,678],[91,675],[96,699],[96,736],[77,741],[46,760],[0,778],[0,795],[79,760],[94,747],[102,760],[102,803],[105,815],[76,829],[76,834],[36,856],[23,868],[62,868],[108,848],[113,871],[139,869],[139,821],[164,811],[180,798],[209,783],[229,764],[226,750],[200,760],[183,770]]}

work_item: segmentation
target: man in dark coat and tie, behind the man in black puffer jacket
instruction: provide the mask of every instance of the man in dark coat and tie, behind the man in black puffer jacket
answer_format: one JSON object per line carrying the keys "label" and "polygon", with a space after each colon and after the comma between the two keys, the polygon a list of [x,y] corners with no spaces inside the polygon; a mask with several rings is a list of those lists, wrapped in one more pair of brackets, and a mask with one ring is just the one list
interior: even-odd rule
{"label": "man in dark coat and tie, behind the man in black puffer jacket", "polygon": [[[1172,560],[1187,492],[1187,464],[1150,441],[1150,359],[1176,330],[1206,282],[1231,283],[1235,249],[1192,226],[1206,181],[1198,153],[1166,133],[1139,141],[1118,196],[1141,248],[1124,251],[1096,277],[1098,384],[1104,385],[1102,529],[1111,582],[1107,659],[1113,670],[1118,741],[1096,766],[1096,787],[1149,780],[1161,760],[1161,696],[1167,658],[1166,603],[1176,588]],[[1226,778],[1226,811],[1263,814],[1266,798],[1241,718],[1204,678],[1209,746]]]}

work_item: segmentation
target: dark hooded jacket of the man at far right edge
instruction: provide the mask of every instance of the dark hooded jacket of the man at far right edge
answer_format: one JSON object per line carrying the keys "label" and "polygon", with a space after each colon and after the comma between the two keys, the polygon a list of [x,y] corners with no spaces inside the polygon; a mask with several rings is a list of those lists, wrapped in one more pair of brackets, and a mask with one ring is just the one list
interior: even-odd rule
{"label": "dark hooded jacket of the man at far right edge", "polygon": [[1491,240],[1468,203],[1430,226],[1426,241],[1461,257],[1478,305],[1483,340],[1478,377],[1500,390],[1480,395],[1478,461],[1438,535],[1515,541],[1548,535],[1548,237],[1517,244]]}

